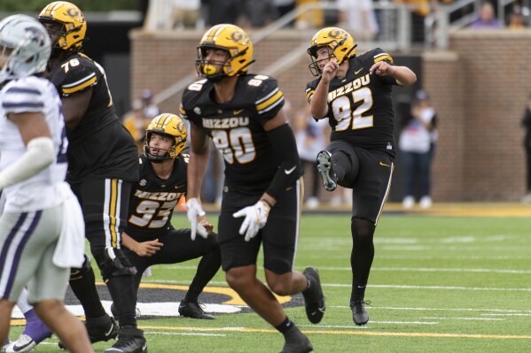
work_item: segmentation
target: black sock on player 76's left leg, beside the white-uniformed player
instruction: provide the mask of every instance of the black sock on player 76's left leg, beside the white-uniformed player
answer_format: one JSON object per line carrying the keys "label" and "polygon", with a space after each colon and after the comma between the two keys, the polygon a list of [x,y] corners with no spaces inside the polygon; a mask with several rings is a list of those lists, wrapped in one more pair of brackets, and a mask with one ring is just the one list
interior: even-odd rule
{"label": "black sock on player 76's left leg, beside the white-uniformed player", "polygon": [[87,318],[101,318],[105,315],[105,309],[99,299],[96,279],[90,263],[83,264],[82,268],[73,268],[70,273],[69,283],[74,295],[82,304]]}

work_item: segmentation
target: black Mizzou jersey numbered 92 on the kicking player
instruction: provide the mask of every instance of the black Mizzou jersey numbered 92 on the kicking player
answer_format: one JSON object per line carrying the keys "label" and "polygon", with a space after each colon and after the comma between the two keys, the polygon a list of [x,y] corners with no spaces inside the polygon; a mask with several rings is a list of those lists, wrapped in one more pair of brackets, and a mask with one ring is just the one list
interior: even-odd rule
{"label": "black Mizzou jersey numbered 92 on the kicking player", "polygon": [[[331,141],[343,140],[355,146],[381,150],[394,157],[394,111],[391,89],[396,80],[391,76],[369,74],[375,63],[393,58],[377,48],[349,59],[345,79],[334,78],[328,90],[327,118],[332,127]],[[321,78],[308,83],[308,102]]]}

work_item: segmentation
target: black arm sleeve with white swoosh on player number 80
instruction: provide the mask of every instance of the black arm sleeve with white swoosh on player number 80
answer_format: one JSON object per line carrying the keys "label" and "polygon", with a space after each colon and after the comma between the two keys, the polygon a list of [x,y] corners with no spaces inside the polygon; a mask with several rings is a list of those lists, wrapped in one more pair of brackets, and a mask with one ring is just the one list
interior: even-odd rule
{"label": "black arm sleeve with white swoosh on player number 80", "polygon": [[287,124],[269,131],[268,135],[280,163],[266,192],[278,199],[285,192],[285,188],[299,179],[301,165],[293,131]]}

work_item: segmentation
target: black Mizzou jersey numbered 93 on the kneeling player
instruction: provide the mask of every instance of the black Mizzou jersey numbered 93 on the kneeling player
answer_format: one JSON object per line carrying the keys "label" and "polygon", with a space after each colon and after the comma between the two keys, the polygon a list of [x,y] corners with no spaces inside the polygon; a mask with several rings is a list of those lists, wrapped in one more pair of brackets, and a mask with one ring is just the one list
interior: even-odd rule
{"label": "black Mizzou jersey numbered 93 on the kneeling player", "polygon": [[168,180],[160,179],[144,155],[138,158],[140,179],[129,198],[129,218],[125,232],[135,240],[166,232],[179,199],[186,194],[188,155],[176,158]]}

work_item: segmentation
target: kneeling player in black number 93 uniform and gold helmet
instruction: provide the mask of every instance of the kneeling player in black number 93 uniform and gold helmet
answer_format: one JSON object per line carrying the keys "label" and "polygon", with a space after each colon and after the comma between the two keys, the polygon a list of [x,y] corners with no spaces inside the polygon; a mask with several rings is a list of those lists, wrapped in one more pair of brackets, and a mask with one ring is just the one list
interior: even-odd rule
{"label": "kneeling player in black number 93 uniform and gold helmet", "polygon": [[160,114],[152,119],[144,139],[144,154],[139,157],[140,179],[129,199],[129,219],[122,234],[123,252],[137,268],[135,288],[142,273],[152,265],[178,264],[202,257],[190,289],[179,305],[179,314],[187,318],[214,318],[198,303],[199,294],[222,265],[217,234],[202,219],[209,234],[207,239],[191,240],[191,229],[175,229],[171,217],[181,197],[186,195],[188,155],[182,154],[186,144],[186,127],[173,114]]}

